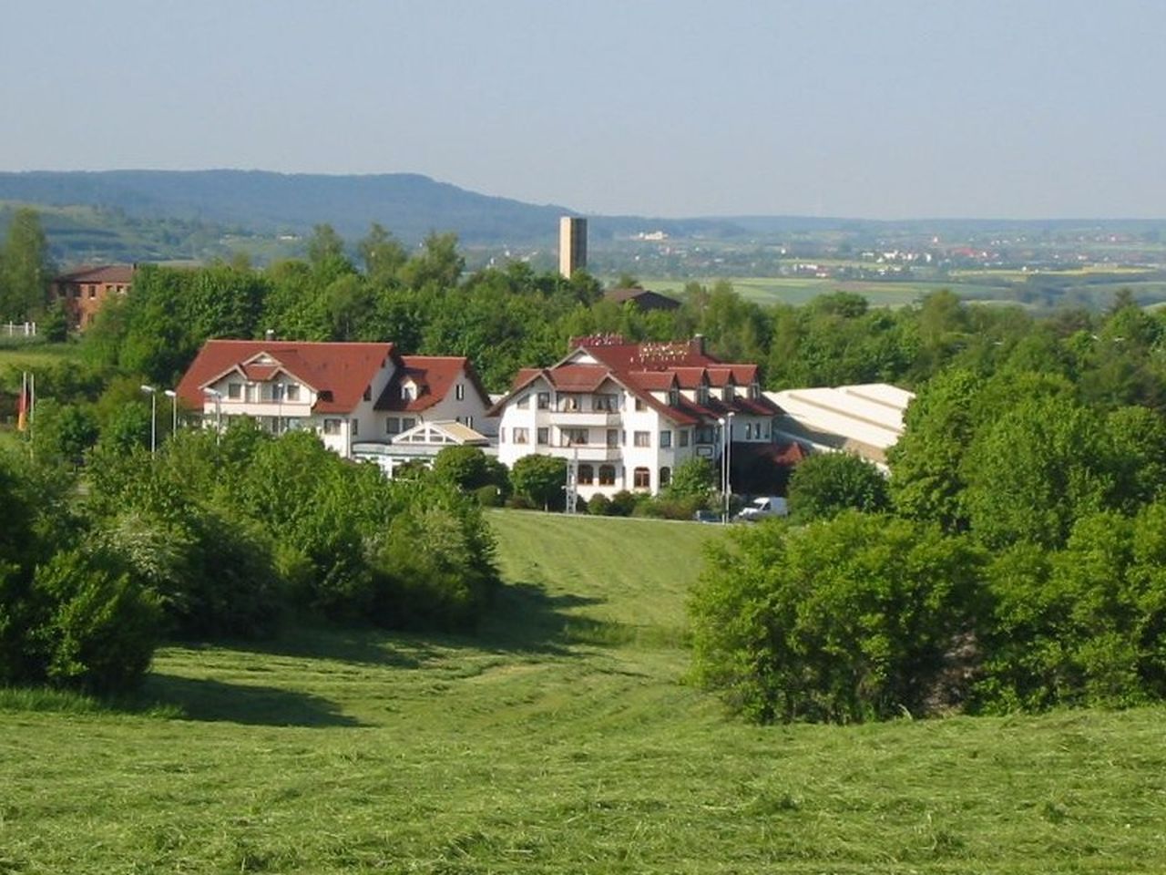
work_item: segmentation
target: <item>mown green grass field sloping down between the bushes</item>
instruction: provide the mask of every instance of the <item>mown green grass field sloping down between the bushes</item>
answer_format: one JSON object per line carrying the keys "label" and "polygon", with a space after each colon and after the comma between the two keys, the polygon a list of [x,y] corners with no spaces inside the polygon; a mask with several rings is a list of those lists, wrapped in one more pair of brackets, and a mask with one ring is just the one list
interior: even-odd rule
{"label": "mown green grass field sloping down between the bushes", "polygon": [[684,682],[717,526],[491,513],[476,636],[170,646],[0,693],[0,873],[1158,873],[1166,709],[753,727]]}

